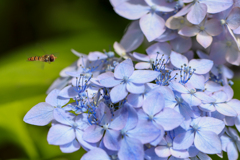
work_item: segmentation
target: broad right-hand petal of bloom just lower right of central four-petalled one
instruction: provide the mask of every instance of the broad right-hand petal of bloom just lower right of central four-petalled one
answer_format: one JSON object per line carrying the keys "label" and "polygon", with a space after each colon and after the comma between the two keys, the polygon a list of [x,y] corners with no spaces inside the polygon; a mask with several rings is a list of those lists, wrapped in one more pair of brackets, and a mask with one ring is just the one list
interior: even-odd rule
{"label": "broad right-hand petal of bloom just lower right of central four-petalled one", "polygon": [[181,114],[170,108],[164,108],[162,112],[154,117],[154,121],[163,126],[165,131],[177,128],[183,120],[184,118]]}

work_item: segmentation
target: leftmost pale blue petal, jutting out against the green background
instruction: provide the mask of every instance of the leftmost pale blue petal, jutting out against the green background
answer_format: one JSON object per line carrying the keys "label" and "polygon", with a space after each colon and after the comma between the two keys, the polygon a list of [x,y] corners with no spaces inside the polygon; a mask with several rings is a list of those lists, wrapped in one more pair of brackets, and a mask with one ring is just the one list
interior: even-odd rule
{"label": "leftmost pale blue petal, jutting out against the green background", "polygon": [[23,121],[37,126],[45,126],[53,120],[54,107],[41,102],[32,107],[24,116]]}

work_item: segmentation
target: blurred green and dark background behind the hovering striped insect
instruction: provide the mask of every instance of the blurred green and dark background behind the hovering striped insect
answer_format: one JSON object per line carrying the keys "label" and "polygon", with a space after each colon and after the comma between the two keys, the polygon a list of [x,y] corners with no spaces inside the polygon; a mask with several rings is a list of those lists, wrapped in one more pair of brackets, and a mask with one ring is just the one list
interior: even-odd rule
{"label": "blurred green and dark background behind the hovering striped insect", "polygon": [[[108,0],[1,0],[0,21],[0,160],[80,159],[82,149],[61,153],[47,143],[49,126],[25,124],[23,117],[45,101],[59,72],[77,60],[71,48],[85,54],[109,50],[130,21],[118,16]],[[51,53],[58,59],[44,69],[27,62],[29,56]],[[240,99],[240,83],[234,82]]]}

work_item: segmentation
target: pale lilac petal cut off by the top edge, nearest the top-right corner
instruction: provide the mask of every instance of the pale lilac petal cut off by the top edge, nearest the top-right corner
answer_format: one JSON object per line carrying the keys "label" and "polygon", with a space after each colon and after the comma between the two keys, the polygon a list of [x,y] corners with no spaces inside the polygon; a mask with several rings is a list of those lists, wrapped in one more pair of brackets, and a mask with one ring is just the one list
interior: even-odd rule
{"label": "pale lilac petal cut off by the top edge, nearest the top-right corner", "polygon": [[233,5],[233,0],[202,0],[201,3],[207,5],[208,13],[218,13]]}

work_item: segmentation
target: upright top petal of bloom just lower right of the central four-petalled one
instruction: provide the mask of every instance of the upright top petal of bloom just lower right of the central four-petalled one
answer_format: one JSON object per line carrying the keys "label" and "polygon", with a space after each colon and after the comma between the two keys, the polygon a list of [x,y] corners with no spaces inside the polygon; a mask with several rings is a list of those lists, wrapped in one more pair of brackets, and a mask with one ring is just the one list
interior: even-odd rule
{"label": "upright top petal of bloom just lower right of the central four-petalled one", "polygon": [[148,115],[155,115],[164,108],[164,97],[161,93],[149,96],[143,103],[143,110]]}

